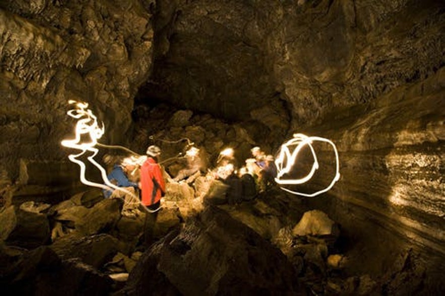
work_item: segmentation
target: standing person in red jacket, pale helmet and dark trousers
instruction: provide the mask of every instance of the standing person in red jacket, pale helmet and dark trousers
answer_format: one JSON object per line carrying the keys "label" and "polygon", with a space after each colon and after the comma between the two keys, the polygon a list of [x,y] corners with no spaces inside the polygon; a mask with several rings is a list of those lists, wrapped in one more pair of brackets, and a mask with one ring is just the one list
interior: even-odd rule
{"label": "standing person in red jacket, pale helmet and dark trousers", "polygon": [[161,197],[165,194],[165,182],[157,159],[160,154],[161,150],[158,146],[149,146],[147,149],[148,158],[141,167],[141,203],[148,209],[144,225],[146,247],[149,247],[153,242],[153,229],[158,209],[161,206]]}

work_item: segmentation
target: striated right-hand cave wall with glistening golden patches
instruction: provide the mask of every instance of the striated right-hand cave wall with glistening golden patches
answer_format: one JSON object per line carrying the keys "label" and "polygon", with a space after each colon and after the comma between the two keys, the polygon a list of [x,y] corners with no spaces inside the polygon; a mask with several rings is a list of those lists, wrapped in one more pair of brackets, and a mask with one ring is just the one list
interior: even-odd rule
{"label": "striated right-hand cave wall with glistening golden patches", "polygon": [[[374,245],[380,262],[392,264],[397,256],[384,254],[411,248],[433,257],[445,253],[444,86],[442,68],[367,108],[334,110],[309,128],[337,143],[341,178],[328,195],[308,204],[325,210],[369,248]],[[319,157],[322,163],[330,160]],[[382,270],[374,265],[378,261],[367,268]]]}

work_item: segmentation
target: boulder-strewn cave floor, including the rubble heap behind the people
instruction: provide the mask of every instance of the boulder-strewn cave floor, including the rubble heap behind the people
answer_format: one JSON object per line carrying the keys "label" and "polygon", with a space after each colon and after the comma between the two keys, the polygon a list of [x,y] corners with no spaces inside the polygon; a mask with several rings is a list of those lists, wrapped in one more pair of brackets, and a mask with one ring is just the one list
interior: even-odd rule
{"label": "boulder-strewn cave floor, including the rubble heap behind the people", "polygon": [[[222,148],[248,152],[256,144],[246,125],[192,111],[165,116],[162,108],[136,110],[132,149],[145,151],[159,139],[166,159],[184,146],[166,140],[186,137],[208,153],[212,169]],[[271,150],[272,144],[264,146]],[[180,164],[164,168],[174,175]],[[206,201],[221,192],[210,176],[205,171],[180,183],[167,179],[150,246],[143,244],[145,212],[123,216],[122,200],[105,199],[98,189],[78,187],[76,194],[54,198],[11,184],[2,192],[0,212],[2,294],[426,293],[414,254],[369,273],[366,245],[354,244],[304,198],[272,186],[251,201],[212,205]],[[24,190],[26,198],[20,197]]]}

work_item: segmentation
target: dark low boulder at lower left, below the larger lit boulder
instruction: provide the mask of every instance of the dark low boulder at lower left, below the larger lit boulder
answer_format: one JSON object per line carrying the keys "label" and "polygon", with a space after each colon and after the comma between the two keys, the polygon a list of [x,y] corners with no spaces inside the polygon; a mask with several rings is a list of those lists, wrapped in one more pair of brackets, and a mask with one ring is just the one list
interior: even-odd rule
{"label": "dark low boulder at lower left, below the larger lit boulder", "polygon": [[107,234],[82,236],[72,233],[56,240],[49,247],[62,259],[80,258],[94,268],[102,267],[120,250],[122,244]]}

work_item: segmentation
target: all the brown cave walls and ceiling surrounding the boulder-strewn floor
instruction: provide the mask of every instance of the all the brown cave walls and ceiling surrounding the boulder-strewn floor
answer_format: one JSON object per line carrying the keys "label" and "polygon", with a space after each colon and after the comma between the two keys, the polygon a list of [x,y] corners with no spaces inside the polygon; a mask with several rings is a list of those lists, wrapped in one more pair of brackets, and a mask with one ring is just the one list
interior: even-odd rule
{"label": "all the brown cave walls and ceiling surrounding the boulder-strewn floor", "polygon": [[[69,99],[94,107],[104,142],[129,140],[139,89],[142,103],[245,120],[230,132],[209,131],[214,119],[204,115],[192,127],[172,123],[172,138],[200,135],[210,154],[239,134],[246,151],[294,132],[331,139],[341,178],[304,202],[366,242],[380,261],[365,268],[377,273],[409,248],[443,260],[443,2],[23,3],[0,11],[0,159],[10,178],[19,158],[69,154],[59,145],[73,128]],[[170,111],[150,116],[163,124]]]}

